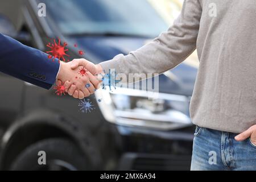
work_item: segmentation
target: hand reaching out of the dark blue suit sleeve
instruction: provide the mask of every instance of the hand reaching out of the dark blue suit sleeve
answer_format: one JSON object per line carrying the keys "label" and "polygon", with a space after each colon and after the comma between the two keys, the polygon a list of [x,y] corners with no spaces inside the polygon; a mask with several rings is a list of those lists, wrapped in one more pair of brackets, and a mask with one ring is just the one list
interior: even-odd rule
{"label": "hand reaching out of the dark blue suit sleeve", "polygon": [[[85,76],[79,75],[79,68],[71,69],[72,61],[69,63],[60,63],[60,71],[57,75],[57,84],[65,82],[64,86],[67,88],[69,95],[74,98],[82,99],[88,97],[90,94],[94,93],[95,88],[98,86],[97,79],[90,73],[87,72]],[[86,87],[88,84],[90,86]]]}

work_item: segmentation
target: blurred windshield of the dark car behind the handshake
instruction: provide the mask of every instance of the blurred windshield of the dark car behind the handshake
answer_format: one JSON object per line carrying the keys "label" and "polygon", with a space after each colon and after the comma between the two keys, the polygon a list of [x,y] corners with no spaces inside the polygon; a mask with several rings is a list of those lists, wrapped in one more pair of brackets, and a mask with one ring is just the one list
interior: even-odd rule
{"label": "blurred windshield of the dark car behind the handshake", "polygon": [[51,18],[65,35],[117,34],[155,37],[168,28],[168,23],[148,0],[40,2],[46,3],[46,18]]}

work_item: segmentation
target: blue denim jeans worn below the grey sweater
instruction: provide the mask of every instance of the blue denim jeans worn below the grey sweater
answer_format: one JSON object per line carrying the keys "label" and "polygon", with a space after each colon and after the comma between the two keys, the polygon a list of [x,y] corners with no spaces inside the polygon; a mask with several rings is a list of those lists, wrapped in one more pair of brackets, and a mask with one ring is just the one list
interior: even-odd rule
{"label": "blue denim jeans worn below the grey sweater", "polygon": [[237,134],[196,127],[191,170],[256,170],[256,145]]}

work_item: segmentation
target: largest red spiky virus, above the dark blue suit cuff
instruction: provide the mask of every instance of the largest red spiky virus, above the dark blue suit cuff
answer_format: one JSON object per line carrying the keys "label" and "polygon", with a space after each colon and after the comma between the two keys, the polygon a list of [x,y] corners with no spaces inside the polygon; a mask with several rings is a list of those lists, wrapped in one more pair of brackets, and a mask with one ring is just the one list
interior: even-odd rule
{"label": "largest red spiky virus, above the dark blue suit cuff", "polygon": [[58,40],[58,43],[56,43],[56,40],[53,39],[53,44],[51,44],[51,43],[47,44],[47,47],[49,47],[51,49],[51,51],[46,52],[46,53],[51,54],[48,56],[48,58],[52,59],[52,61],[54,61],[55,58],[57,58],[59,63],[60,63],[60,59],[63,59],[63,61],[65,61],[64,56],[69,56],[66,53],[68,51],[68,49],[65,48],[66,46],[68,46],[68,44],[65,42],[63,43],[63,45],[60,44],[60,39]]}

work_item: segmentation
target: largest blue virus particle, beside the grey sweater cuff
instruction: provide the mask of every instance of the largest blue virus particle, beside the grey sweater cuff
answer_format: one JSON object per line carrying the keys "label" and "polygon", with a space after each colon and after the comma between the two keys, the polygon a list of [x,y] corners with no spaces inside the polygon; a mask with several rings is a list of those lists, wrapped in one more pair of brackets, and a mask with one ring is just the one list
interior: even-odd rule
{"label": "largest blue virus particle, beside the grey sweater cuff", "polygon": [[[105,72],[105,71],[104,71]],[[109,69],[109,73],[105,75],[101,75],[101,81],[102,81],[102,89],[105,89],[107,86],[109,87],[109,90],[112,90],[112,88],[115,89],[115,85],[118,84],[121,80],[117,80],[117,74],[113,69]]]}

